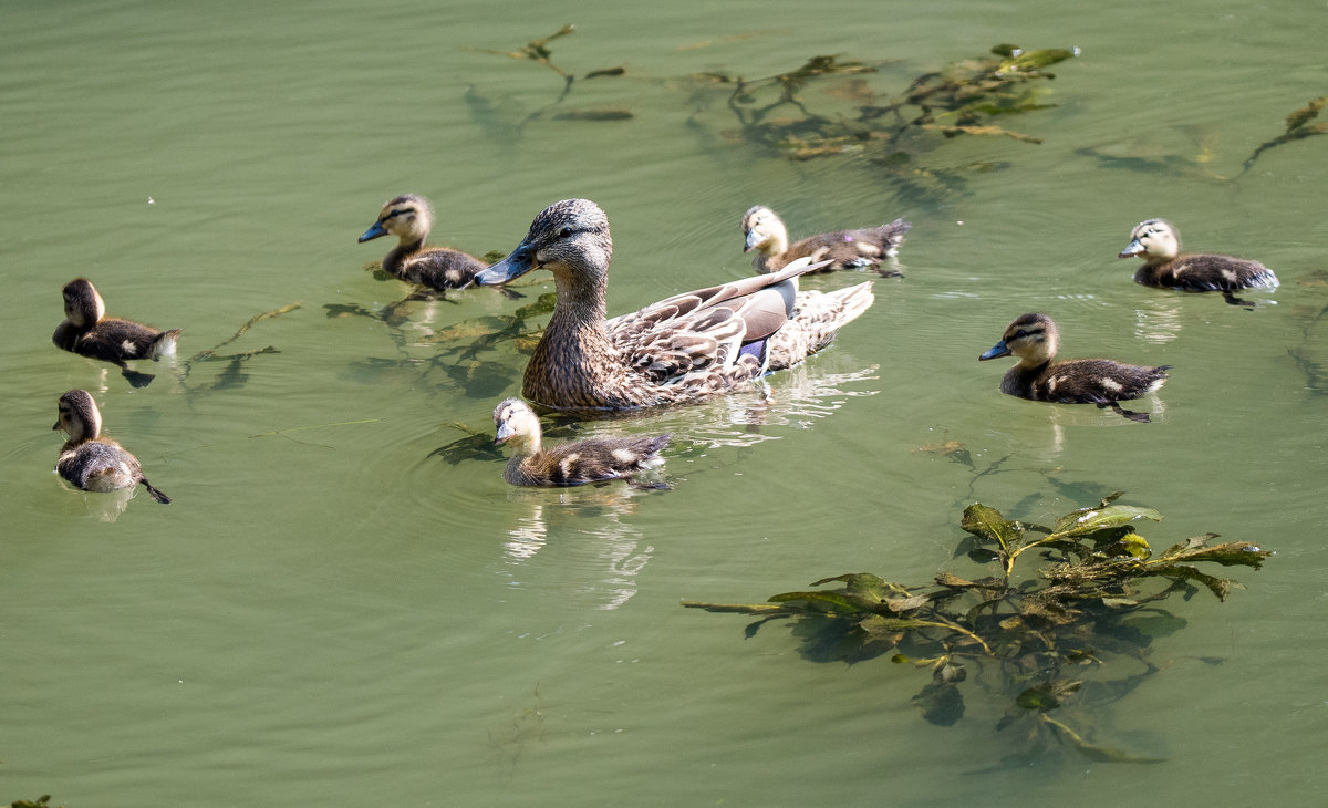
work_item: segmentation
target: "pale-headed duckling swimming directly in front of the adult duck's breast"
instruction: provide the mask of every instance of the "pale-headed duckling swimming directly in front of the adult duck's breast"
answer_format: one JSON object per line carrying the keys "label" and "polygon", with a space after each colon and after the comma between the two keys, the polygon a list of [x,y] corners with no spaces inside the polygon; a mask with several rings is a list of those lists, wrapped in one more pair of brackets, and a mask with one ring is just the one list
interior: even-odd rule
{"label": "pale-headed duckling swimming directly in front of the adult duck's breast", "polygon": [[513,485],[583,485],[629,477],[664,462],[660,449],[671,435],[655,437],[591,437],[551,449],[539,445],[539,416],[521,399],[506,399],[494,409],[499,445],[511,443],[515,453],[503,469]]}

